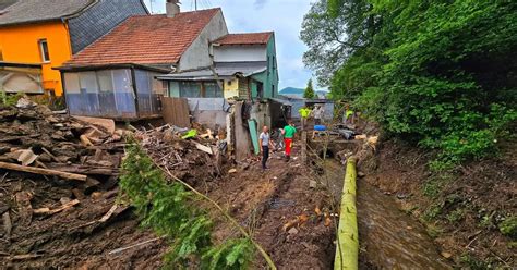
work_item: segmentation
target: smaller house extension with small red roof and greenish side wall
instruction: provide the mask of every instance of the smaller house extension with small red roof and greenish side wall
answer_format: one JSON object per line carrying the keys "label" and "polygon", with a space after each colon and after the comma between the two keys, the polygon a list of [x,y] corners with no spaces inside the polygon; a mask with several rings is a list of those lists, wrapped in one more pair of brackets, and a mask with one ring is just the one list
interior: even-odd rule
{"label": "smaller house extension with small red roof and greenish side wall", "polygon": [[168,96],[188,98],[195,121],[211,126],[226,124],[228,100],[258,101],[250,113],[269,125],[267,99],[278,95],[275,34],[228,34],[213,40],[205,57],[213,59],[209,66],[158,76],[168,82]]}

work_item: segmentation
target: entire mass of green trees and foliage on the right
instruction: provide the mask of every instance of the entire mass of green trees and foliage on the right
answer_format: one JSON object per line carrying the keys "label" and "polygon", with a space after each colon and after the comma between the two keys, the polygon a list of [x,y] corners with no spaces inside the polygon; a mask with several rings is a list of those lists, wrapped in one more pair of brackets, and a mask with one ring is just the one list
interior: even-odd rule
{"label": "entire mass of green trees and foliage on the right", "polygon": [[352,100],[392,136],[438,149],[448,164],[493,152],[512,133],[517,2],[328,0],[326,13],[325,2],[314,3],[301,36],[305,63],[328,72],[335,99]]}

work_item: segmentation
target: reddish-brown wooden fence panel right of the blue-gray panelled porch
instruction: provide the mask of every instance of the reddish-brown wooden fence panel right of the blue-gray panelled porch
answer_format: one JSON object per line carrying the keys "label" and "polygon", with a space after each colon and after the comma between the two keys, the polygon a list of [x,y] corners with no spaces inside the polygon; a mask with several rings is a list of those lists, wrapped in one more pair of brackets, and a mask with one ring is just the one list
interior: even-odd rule
{"label": "reddish-brown wooden fence panel right of the blue-gray panelled porch", "polygon": [[164,121],[180,127],[190,127],[189,103],[185,98],[161,98]]}

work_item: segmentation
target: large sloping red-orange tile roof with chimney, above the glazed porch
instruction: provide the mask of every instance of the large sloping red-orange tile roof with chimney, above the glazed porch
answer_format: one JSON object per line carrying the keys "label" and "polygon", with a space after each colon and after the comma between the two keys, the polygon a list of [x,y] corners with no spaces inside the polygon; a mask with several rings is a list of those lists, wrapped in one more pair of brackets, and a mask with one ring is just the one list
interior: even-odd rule
{"label": "large sloping red-orange tile roof with chimney, above the glazed porch", "polygon": [[220,9],[132,16],[64,65],[177,63]]}

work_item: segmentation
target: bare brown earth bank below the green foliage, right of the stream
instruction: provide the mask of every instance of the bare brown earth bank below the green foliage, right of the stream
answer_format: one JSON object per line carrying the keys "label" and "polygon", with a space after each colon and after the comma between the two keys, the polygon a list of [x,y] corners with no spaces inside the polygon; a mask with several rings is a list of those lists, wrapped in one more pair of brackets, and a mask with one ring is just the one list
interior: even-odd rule
{"label": "bare brown earth bank below the green foliage, right of the stream", "polygon": [[516,145],[505,142],[498,157],[437,173],[428,167],[432,152],[388,140],[360,169],[425,225],[456,267],[509,269],[517,267],[515,240],[498,224],[517,213]]}

